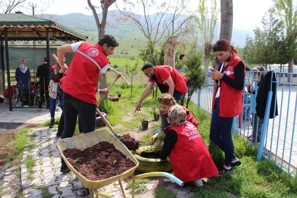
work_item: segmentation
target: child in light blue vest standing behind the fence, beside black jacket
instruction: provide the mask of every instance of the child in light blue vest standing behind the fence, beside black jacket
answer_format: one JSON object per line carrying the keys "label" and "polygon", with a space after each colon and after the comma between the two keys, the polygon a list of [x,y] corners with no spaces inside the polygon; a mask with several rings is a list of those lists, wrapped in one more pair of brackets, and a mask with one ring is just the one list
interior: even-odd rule
{"label": "child in light blue vest standing behind the fence, beside black jacket", "polygon": [[262,128],[262,120],[257,116],[256,114],[256,97],[257,97],[257,91],[260,84],[261,74],[264,71],[264,67],[262,66],[256,66],[254,69],[252,69],[252,75],[253,80],[255,83],[253,86],[248,85],[247,89],[249,94],[251,95],[251,105],[250,105],[250,113],[252,113],[252,121],[251,125],[253,126],[252,134],[249,135],[249,140],[252,142],[260,141],[261,137],[261,128]]}

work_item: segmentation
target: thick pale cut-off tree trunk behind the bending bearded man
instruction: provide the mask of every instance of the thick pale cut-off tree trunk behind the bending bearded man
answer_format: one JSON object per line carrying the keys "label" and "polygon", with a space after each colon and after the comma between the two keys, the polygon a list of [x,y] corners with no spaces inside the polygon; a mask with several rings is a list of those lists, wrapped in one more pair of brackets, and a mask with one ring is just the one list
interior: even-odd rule
{"label": "thick pale cut-off tree trunk behind the bending bearded man", "polygon": [[168,37],[164,47],[164,65],[175,68],[175,53],[178,46],[177,36]]}

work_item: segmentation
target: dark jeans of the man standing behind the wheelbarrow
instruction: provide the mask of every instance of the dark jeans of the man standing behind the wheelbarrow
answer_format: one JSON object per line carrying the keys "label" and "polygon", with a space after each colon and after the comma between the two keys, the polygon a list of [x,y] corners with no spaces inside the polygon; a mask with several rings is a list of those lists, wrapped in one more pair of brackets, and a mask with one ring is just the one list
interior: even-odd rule
{"label": "dark jeans of the man standing behind the wheelbarrow", "polygon": [[95,131],[97,105],[87,103],[64,92],[63,106],[65,125],[61,139],[73,136],[78,115],[81,119],[84,133]]}

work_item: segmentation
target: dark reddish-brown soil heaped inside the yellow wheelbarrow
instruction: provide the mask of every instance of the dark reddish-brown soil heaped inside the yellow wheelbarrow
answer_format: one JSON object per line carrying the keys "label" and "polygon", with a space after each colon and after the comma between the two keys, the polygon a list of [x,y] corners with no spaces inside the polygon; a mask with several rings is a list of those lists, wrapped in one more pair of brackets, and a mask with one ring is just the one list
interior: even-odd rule
{"label": "dark reddish-brown soil heaped inside the yellow wheelbarrow", "polygon": [[63,154],[76,171],[92,181],[121,175],[136,166],[108,142],[99,142],[84,150],[67,148]]}

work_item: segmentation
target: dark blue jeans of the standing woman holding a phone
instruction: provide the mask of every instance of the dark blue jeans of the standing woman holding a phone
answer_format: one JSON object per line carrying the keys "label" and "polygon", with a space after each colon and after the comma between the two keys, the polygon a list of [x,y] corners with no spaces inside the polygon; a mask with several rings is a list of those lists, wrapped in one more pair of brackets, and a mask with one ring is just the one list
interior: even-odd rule
{"label": "dark blue jeans of the standing woman holding a phone", "polygon": [[225,165],[231,165],[234,154],[234,145],[231,136],[233,117],[220,117],[219,98],[216,98],[214,112],[211,118],[209,138],[225,153]]}

